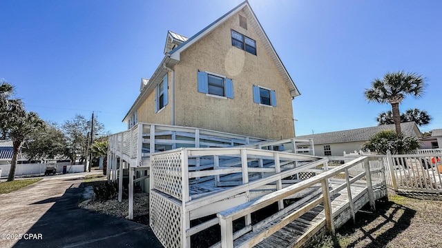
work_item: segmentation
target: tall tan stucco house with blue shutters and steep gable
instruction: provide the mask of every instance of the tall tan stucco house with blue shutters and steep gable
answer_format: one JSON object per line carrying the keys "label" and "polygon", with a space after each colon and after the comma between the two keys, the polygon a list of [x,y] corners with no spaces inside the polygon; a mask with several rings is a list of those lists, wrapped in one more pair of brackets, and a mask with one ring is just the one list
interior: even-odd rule
{"label": "tall tan stucco house with blue shutters and steep gable", "polygon": [[249,3],[187,38],[168,31],[164,58],[124,117],[259,138],[293,138],[300,95]]}

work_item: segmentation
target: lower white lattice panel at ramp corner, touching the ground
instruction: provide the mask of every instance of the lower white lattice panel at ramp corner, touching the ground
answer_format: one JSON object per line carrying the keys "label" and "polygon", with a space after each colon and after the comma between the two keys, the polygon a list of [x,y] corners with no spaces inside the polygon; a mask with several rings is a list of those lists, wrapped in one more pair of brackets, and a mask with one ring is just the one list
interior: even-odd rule
{"label": "lower white lattice panel at ramp corner, touching the ground", "polygon": [[151,228],[164,247],[181,247],[182,206],[151,190]]}

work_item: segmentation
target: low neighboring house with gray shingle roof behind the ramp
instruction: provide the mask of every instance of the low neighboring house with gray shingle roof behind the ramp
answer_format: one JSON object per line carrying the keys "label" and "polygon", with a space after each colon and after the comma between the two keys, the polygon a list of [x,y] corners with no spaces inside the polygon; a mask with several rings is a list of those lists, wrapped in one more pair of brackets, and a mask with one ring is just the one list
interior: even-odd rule
{"label": "low neighboring house with gray shingle roof behind the ramp", "polygon": [[[370,137],[383,130],[395,130],[394,124],[296,136],[296,138],[312,138],[317,156],[343,156],[344,152],[347,154],[358,152]],[[401,123],[401,130],[407,137],[422,138],[421,131],[414,122]]]}

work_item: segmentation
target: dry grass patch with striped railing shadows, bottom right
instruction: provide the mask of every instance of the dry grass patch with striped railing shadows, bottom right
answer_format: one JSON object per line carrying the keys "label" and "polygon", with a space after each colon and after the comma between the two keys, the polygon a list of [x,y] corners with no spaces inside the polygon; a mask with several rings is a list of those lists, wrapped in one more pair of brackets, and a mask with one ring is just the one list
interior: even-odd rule
{"label": "dry grass patch with striped railing shadows, bottom right", "polygon": [[441,200],[440,194],[389,192],[389,200],[378,201],[376,211],[359,211],[356,224],[350,220],[311,247],[442,247]]}

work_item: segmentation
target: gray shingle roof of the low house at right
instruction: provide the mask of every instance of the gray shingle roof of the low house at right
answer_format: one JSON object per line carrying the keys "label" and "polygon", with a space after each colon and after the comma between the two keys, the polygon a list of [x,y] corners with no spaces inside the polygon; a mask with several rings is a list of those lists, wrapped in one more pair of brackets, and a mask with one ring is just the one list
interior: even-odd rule
{"label": "gray shingle roof of the low house at right", "polygon": [[[347,143],[356,141],[368,141],[371,136],[383,130],[394,130],[394,124],[378,125],[376,127],[364,127],[354,130],[343,130],[337,132],[327,132],[322,134],[309,134],[304,136],[296,136],[296,138],[312,138],[315,145]],[[401,123],[401,130],[407,137],[413,136],[422,138],[421,131],[416,123]]]}

